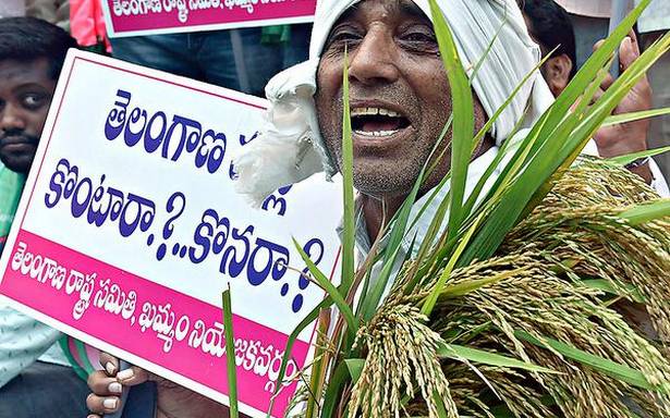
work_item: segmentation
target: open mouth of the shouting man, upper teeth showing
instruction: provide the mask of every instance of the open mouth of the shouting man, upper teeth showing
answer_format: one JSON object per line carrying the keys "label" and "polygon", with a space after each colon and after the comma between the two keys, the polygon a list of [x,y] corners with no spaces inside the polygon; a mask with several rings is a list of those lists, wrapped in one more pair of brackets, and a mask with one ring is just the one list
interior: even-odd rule
{"label": "open mouth of the shouting man, upper teeth showing", "polygon": [[385,108],[354,108],[351,110],[351,127],[358,135],[391,136],[410,126],[410,120]]}

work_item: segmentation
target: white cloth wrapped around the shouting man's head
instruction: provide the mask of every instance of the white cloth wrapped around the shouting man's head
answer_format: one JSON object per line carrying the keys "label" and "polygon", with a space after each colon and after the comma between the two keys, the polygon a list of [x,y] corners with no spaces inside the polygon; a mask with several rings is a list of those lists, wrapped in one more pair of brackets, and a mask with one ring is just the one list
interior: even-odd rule
{"label": "white cloth wrapped around the shouting man's head", "polygon": [[[314,93],[319,58],[328,35],[342,13],[361,0],[320,0],[309,45],[309,60],[276,75],[266,87],[270,100],[261,134],[235,159],[237,190],[259,205],[278,187],[336,169],[319,133]],[[430,16],[427,0],[414,2]],[[437,0],[449,23],[468,75],[484,58],[472,79],[484,110],[492,115],[540,59],[528,36],[515,0]],[[489,45],[492,46],[488,50]],[[488,50],[488,52],[487,52]],[[497,144],[514,126],[529,127],[553,98],[536,71],[495,123]],[[523,121],[522,118],[524,119]]]}

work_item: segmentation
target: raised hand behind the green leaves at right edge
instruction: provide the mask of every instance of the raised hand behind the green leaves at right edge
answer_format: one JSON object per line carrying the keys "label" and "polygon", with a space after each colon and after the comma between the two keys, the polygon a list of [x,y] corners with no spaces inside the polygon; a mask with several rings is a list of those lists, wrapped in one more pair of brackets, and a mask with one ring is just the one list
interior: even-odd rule
{"label": "raised hand behind the green leaves at right edge", "polygon": [[[600,40],[594,46],[597,50],[602,45]],[[620,70],[624,72],[635,60],[639,58],[639,46],[634,32],[631,32],[621,42],[619,48]],[[602,94],[614,83],[611,74],[608,74],[602,84],[600,91],[596,94],[594,100],[600,98]],[[637,112],[651,109],[653,96],[651,87],[646,75],[631,89],[631,91],[621,100],[612,114]],[[617,157],[628,153],[644,151],[647,149],[647,132],[649,128],[649,120],[622,123],[619,125],[601,127],[594,139],[598,146],[598,152],[601,157]],[[651,183],[653,175],[648,164],[639,167],[634,172],[641,175],[647,183]]]}

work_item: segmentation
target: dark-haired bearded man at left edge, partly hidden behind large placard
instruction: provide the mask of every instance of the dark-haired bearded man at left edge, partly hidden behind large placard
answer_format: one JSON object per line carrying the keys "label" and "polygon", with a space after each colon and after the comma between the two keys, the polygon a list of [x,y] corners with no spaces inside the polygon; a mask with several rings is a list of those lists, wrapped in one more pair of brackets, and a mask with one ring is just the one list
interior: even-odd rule
{"label": "dark-haired bearded man at left edge, partly hidden behind large placard", "polygon": [[[9,209],[3,217],[13,217],[65,53],[73,47],[74,39],[50,23],[0,19],[0,179],[15,173],[12,193],[4,188],[0,195],[3,204],[12,200],[2,205]],[[0,417],[85,414],[86,385],[54,344],[60,337],[58,331],[0,306]]]}

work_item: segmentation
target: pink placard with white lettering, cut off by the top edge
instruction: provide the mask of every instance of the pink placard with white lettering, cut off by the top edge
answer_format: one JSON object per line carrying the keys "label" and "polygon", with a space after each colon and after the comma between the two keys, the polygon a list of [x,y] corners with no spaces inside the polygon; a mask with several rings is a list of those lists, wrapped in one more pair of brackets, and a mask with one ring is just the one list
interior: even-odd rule
{"label": "pink placard with white lettering, cut off by the top edge", "polygon": [[314,21],[316,0],[99,0],[110,38]]}

